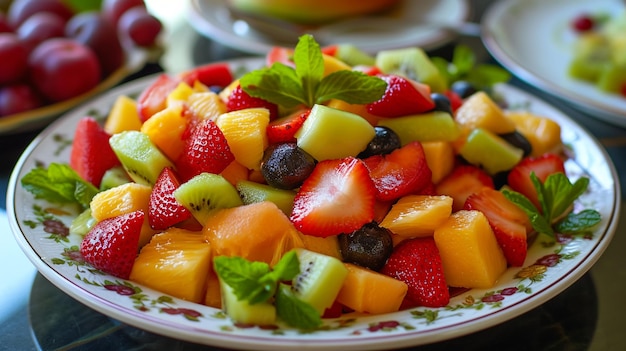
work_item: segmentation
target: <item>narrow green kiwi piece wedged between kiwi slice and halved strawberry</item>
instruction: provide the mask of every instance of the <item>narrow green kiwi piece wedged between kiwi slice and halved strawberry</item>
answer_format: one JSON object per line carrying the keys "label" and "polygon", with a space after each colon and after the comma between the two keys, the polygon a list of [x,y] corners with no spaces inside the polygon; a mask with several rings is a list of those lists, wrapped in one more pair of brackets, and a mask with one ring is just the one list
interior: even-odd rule
{"label": "narrow green kiwi piece wedged between kiwi slice and halved strawberry", "polygon": [[270,201],[278,206],[287,216],[291,214],[293,198],[296,196],[293,190],[278,189],[249,180],[239,181],[237,183],[237,191],[245,205]]}

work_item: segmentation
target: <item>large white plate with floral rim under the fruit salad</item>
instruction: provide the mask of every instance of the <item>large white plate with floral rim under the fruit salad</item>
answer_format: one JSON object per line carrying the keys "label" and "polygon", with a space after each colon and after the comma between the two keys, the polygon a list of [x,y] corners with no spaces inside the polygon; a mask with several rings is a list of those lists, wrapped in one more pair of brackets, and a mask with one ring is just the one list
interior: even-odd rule
{"label": "large white plate with floral rim under the fruit salad", "polygon": [[[261,60],[232,63],[236,72],[261,64]],[[71,260],[71,255],[65,254],[66,250],[75,251],[80,239],[70,236],[67,241],[60,240],[63,238],[44,231],[42,220],[45,215],[69,226],[77,210],[34,200],[20,186],[20,179],[34,167],[42,163],[68,162],[70,148],[67,141],[72,139],[79,119],[93,113],[105,115],[117,96],[137,94],[153,79],[155,77],[148,77],[116,88],[55,121],[24,152],[11,175],[7,191],[7,215],[11,229],[20,247],[41,274],[94,310],[139,328],[190,342],[243,349],[367,350],[432,343],[489,328],[556,296],[591,268],[609,245],[617,227],[620,206],[618,178],[610,158],[597,140],[546,103],[513,87],[500,86],[498,91],[510,106],[529,108],[532,112],[553,118],[562,126],[563,139],[574,155],[566,163],[567,171],[572,177],[585,175],[591,179],[590,191],[580,201],[602,214],[602,222],[593,236],[551,247],[535,242],[524,268],[507,270],[493,289],[470,290],[453,297],[445,308],[414,308],[377,316],[345,316],[328,320],[325,329],[310,333],[288,328],[238,328],[217,309],[163,298],[161,293],[132,282],[93,274],[87,266]],[[536,264],[540,258],[554,255],[555,250],[560,250],[562,256],[554,262],[554,266]],[[140,288],[143,298],[108,290],[104,287],[107,284]],[[161,312],[162,308],[168,307],[184,307],[200,315],[185,318],[182,314]],[[385,322],[384,330],[375,327],[381,322]]]}

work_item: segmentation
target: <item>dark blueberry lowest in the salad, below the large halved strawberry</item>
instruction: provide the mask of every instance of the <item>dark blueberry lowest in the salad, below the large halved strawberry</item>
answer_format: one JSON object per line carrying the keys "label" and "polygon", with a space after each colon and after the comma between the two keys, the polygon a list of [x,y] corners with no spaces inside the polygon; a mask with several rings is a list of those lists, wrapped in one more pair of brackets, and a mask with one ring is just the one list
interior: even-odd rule
{"label": "dark blueberry lowest in the salad, below the large halved strawberry", "polygon": [[344,262],[379,271],[393,251],[391,231],[371,222],[350,234],[338,236]]}

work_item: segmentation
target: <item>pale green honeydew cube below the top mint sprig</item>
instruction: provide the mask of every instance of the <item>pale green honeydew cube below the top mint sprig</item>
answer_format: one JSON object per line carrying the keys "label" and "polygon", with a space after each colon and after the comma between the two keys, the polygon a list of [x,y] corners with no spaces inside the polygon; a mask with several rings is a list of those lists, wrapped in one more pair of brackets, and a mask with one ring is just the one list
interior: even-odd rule
{"label": "pale green honeydew cube below the top mint sprig", "polygon": [[298,147],[318,161],[356,156],[376,132],[354,113],[315,105],[296,133]]}

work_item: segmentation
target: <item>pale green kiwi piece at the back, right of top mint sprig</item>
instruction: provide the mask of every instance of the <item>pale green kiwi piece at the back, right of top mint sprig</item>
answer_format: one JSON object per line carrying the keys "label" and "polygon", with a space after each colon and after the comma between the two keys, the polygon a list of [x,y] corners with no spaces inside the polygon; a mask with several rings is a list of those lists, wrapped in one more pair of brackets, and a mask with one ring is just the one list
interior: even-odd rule
{"label": "pale green kiwi piece at the back, right of top mint sprig", "polygon": [[376,55],[376,66],[384,73],[427,84],[433,92],[441,93],[448,85],[424,50],[417,47],[380,51]]}

